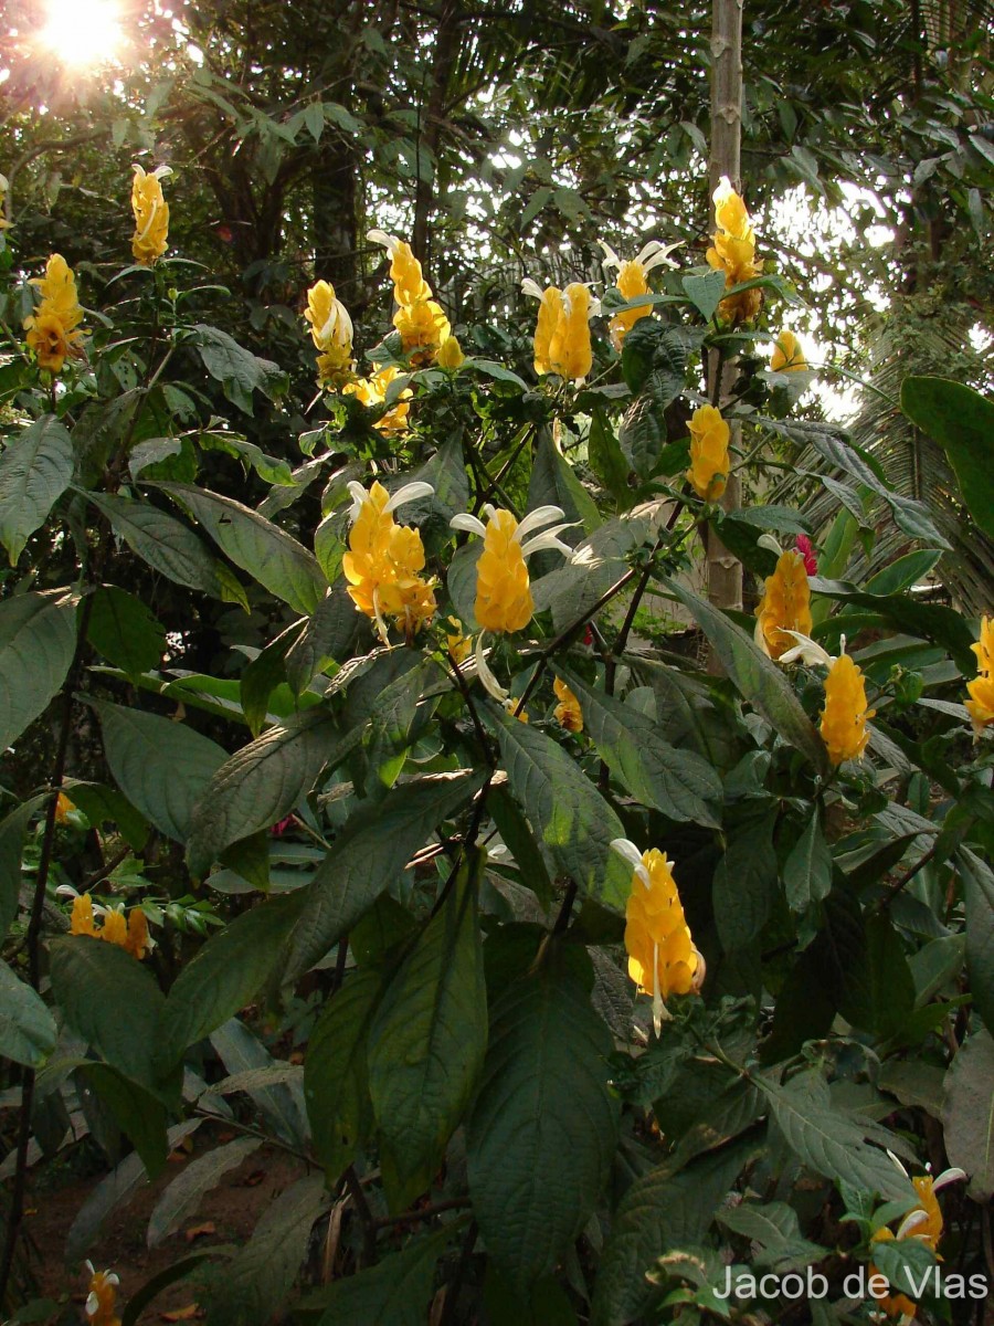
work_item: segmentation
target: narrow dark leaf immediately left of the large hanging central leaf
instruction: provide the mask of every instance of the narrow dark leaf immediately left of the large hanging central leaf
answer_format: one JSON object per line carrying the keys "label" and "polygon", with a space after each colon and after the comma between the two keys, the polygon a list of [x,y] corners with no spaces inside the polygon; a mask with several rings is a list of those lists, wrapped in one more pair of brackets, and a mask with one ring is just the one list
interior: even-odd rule
{"label": "narrow dark leaf immediately left of the large hanging central leaf", "polygon": [[382,991],[378,971],[349,976],[325,1005],[307,1041],[304,1098],[314,1155],[331,1183],[372,1134],[366,1042]]}

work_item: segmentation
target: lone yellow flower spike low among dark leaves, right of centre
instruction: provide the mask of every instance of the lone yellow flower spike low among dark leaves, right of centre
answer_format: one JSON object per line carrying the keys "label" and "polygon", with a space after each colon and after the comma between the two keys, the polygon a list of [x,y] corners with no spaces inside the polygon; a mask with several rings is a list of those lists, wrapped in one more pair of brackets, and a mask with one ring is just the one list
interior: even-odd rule
{"label": "lone yellow flower spike low among dark leaves, right of centre", "polygon": [[632,891],[624,912],[628,976],[639,994],[652,996],[652,1024],[659,1036],[663,1021],[673,1016],[665,1000],[700,989],[704,959],[693,947],[665,853],[656,847],[640,853],[627,838],[615,838],[611,847],[632,867]]}

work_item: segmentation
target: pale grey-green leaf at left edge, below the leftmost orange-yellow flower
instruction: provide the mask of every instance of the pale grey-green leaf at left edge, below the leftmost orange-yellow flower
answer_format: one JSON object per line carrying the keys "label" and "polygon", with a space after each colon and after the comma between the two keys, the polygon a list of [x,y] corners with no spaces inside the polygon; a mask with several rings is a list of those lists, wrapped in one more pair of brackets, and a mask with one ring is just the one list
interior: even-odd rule
{"label": "pale grey-green leaf at left edge, below the leftmost orange-yellow flower", "polygon": [[54,415],[41,415],[0,452],[0,544],[11,566],[73,477],[73,439]]}

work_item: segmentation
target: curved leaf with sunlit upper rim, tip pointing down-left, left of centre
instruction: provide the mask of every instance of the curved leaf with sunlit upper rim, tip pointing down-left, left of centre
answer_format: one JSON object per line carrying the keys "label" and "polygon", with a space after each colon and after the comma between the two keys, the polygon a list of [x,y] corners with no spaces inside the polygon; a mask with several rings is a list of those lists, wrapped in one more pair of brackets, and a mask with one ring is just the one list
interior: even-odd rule
{"label": "curved leaf with sunlit upper rim, tip pointing down-left, left of centre", "polygon": [[268,829],[358,740],[323,711],[269,728],[215,770],[193,810],[187,861],[203,875],[225,847]]}

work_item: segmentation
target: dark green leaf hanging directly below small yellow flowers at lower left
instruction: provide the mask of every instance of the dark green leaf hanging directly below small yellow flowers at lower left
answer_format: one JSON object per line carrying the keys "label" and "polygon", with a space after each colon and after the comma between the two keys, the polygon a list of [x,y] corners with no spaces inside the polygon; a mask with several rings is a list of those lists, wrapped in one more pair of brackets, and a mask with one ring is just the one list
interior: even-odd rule
{"label": "dark green leaf hanging directly below small yellow flowers at lower left", "polygon": [[166,996],[138,959],[89,935],[49,944],[52,989],[62,1016],[111,1067],[158,1091],[155,1048]]}

